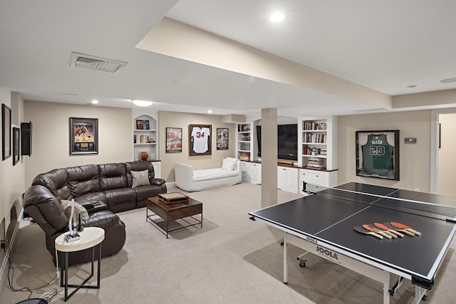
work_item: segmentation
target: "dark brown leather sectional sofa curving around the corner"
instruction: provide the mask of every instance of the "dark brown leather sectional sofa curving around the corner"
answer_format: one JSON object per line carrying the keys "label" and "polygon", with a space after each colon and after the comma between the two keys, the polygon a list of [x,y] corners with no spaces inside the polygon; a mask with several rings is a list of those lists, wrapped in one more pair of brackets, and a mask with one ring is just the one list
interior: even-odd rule
{"label": "dark brown leather sectional sofa curving around the corner", "polygon": [[[146,169],[150,185],[132,188],[131,172]],[[105,257],[120,251],[125,243],[125,224],[115,213],[144,207],[147,197],[166,192],[165,180],[155,178],[152,162],[87,164],[38,174],[24,193],[24,209],[46,233],[46,248],[55,264],[55,239],[68,231],[62,199],[74,199],[87,209],[89,219],[84,226],[105,229],[101,243]],[[70,253],[68,260],[69,265],[92,261],[92,251]]]}

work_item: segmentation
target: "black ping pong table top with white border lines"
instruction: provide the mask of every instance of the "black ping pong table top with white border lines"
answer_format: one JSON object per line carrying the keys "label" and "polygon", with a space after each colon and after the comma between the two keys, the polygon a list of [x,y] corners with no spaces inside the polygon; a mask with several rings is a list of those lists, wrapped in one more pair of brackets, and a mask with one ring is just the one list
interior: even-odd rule
{"label": "black ping pong table top with white border lines", "polygon": [[[309,236],[320,243],[431,281],[455,235],[455,222],[375,206],[374,201],[385,199],[363,194],[366,192],[427,203],[454,203],[454,199],[447,196],[348,183],[252,211],[249,215],[293,231],[303,238]],[[389,221],[407,224],[422,235],[380,240],[353,231],[353,226]]]}

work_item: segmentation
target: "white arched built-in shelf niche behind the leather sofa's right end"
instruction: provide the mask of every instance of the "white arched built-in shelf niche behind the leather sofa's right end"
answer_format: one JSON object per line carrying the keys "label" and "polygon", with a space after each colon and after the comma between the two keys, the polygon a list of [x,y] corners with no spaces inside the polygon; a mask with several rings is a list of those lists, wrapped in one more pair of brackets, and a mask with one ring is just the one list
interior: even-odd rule
{"label": "white arched built-in shelf niche behind the leather sofa's right end", "polygon": [[148,116],[140,115],[133,120],[133,152],[134,160],[141,160],[142,152],[146,152],[148,160],[157,159],[157,121]]}

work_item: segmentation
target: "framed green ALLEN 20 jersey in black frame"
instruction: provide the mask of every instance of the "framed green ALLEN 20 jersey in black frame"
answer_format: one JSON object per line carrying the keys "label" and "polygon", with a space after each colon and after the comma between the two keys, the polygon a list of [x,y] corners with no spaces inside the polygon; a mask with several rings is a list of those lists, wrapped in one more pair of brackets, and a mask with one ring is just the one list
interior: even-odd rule
{"label": "framed green ALLEN 20 jersey in black frame", "polygon": [[356,131],[356,175],[399,180],[399,130]]}

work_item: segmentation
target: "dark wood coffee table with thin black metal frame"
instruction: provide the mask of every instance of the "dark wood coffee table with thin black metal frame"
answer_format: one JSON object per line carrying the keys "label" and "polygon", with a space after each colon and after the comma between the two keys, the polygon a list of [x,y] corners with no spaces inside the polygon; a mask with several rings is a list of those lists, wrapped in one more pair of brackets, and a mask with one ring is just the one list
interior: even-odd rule
{"label": "dark wood coffee table with thin black metal frame", "polygon": [[[149,215],[149,211],[152,211],[152,214]],[[197,214],[201,214],[200,220],[194,217],[194,215]],[[165,231],[162,231],[160,226],[158,226],[157,221],[154,221],[152,219],[153,216],[160,216],[160,218],[166,222]],[[169,229],[170,221],[184,219],[185,217],[191,217],[196,222],[192,224],[187,221],[188,225],[180,226],[171,230]],[[147,208],[145,209],[145,220],[148,220],[150,224],[154,225],[158,230],[162,231],[163,234],[166,235],[166,239],[168,239],[168,234],[171,231],[199,224],[202,228],[202,202],[189,198],[189,201],[186,202],[166,204],[164,201],[160,201],[160,199],[158,199],[158,196],[149,197],[147,199]]]}

